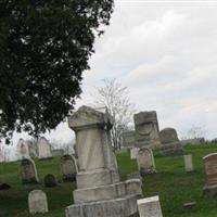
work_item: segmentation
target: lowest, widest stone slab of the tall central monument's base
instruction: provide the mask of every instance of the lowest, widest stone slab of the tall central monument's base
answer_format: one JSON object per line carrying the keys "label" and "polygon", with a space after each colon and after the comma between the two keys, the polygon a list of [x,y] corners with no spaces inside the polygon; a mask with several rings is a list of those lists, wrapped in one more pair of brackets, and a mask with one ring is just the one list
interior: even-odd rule
{"label": "lowest, widest stone slab of the tall central monument's base", "polygon": [[139,217],[136,195],[71,205],[65,214],[66,217]]}

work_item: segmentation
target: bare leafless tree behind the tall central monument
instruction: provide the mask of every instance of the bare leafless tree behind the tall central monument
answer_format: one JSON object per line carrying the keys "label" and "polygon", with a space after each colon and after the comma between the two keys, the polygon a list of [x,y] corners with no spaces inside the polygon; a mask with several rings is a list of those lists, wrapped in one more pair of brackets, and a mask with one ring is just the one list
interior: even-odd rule
{"label": "bare leafless tree behind the tall central monument", "polygon": [[94,106],[107,107],[107,112],[113,116],[112,142],[115,149],[120,149],[122,135],[129,129],[133,114],[133,105],[130,103],[127,87],[123,87],[115,79],[104,79],[102,87],[95,87],[93,97]]}

